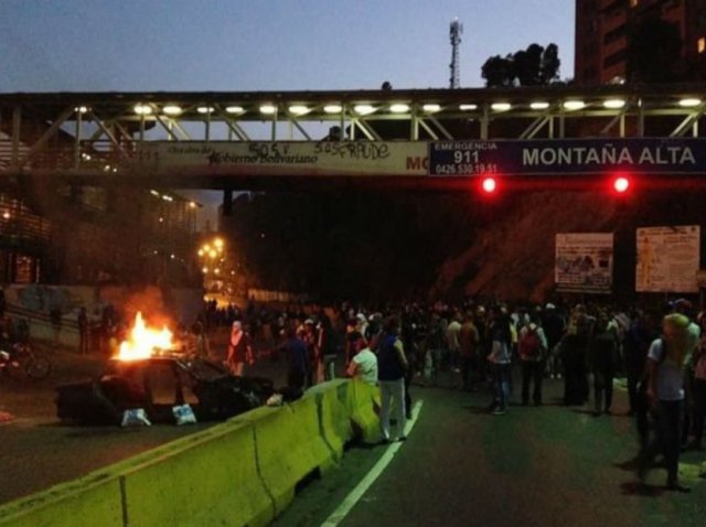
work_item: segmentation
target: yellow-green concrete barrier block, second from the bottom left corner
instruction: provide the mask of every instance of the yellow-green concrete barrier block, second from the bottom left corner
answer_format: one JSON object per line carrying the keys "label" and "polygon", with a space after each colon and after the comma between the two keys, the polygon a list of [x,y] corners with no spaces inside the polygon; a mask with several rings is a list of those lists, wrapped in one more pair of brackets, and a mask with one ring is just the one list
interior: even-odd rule
{"label": "yellow-green concrete barrier block, second from the bottom left corner", "polygon": [[229,421],[190,439],[124,473],[126,524],[267,525],[275,504],[257,471],[253,426]]}

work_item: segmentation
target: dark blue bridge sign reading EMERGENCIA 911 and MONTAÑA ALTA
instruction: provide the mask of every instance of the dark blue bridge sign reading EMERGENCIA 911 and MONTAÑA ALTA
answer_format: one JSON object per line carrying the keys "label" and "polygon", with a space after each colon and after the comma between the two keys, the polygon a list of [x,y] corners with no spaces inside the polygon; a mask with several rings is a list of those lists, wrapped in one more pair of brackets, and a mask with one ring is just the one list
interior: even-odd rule
{"label": "dark blue bridge sign reading EMERGENCIA 911 and MONTA\u00d1A ALTA", "polygon": [[429,175],[560,175],[607,170],[693,174],[706,171],[706,139],[468,140],[429,143]]}

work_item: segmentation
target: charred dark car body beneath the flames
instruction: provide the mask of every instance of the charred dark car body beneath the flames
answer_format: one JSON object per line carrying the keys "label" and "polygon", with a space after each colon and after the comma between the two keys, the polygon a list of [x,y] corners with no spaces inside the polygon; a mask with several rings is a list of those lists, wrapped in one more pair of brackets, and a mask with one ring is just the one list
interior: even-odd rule
{"label": "charred dark car body beneath the flames", "polygon": [[227,419],[265,404],[270,379],[234,377],[220,364],[182,355],[111,359],[97,379],[56,388],[56,415],[64,421],[120,423],[141,408],[150,422],[174,422],[172,409],[189,404],[199,421]]}

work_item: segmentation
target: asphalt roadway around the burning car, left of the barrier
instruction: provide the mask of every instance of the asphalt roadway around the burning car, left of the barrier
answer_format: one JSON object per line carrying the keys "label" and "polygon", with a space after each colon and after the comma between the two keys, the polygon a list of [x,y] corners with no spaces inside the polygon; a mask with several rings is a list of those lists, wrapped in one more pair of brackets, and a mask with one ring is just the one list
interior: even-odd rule
{"label": "asphalt roadway around the burning car, left of the barrier", "polygon": [[[75,480],[174,439],[195,433],[214,422],[176,427],[85,427],[56,418],[55,387],[98,375],[106,357],[72,352],[51,354],[54,369],[43,380],[0,376],[0,410],[14,419],[0,424],[0,504]],[[281,386],[284,361],[259,361],[248,372]]]}

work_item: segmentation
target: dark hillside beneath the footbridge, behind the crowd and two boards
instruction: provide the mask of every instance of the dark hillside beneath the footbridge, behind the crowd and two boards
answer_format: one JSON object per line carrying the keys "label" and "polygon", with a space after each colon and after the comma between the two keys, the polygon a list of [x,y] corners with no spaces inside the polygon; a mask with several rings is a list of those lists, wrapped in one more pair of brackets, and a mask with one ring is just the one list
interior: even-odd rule
{"label": "dark hillside beneath the footbridge, behind the crowd and two boards", "polygon": [[[554,294],[555,235],[614,233],[613,291],[634,297],[637,227],[699,224],[706,192],[651,187],[462,193],[269,194],[236,202],[226,229],[250,287],[324,299],[464,294],[544,301]],[[704,232],[702,227],[702,232]]]}

